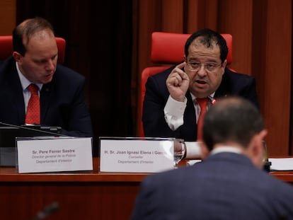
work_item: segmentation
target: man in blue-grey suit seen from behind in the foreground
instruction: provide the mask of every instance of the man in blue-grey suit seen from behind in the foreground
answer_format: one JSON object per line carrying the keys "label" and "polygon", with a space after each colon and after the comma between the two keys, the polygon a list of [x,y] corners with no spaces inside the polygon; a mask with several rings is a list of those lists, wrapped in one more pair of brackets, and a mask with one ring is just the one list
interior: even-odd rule
{"label": "man in blue-grey suit seen from behind in the foreground", "polygon": [[293,219],[293,187],[262,170],[267,134],[255,105],[220,98],[205,114],[202,162],[147,176],[131,220]]}

